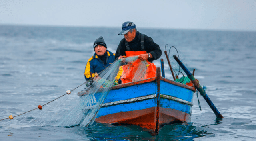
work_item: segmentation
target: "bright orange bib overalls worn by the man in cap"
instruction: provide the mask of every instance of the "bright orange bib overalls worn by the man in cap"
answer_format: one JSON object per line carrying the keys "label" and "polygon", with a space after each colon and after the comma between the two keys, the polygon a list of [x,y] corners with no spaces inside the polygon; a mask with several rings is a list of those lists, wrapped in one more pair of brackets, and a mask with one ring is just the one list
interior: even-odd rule
{"label": "bright orange bib overalls worn by the man in cap", "polygon": [[[140,54],[145,54],[147,52],[146,51],[126,51],[125,53],[126,53],[126,57],[132,57]],[[139,68],[139,64],[141,62],[142,61],[140,59],[137,59],[133,63],[128,63],[126,65],[123,65],[123,73],[121,77],[122,84],[132,82],[132,80],[134,79],[134,75],[137,69]],[[142,80],[156,77],[156,65],[154,63],[149,62],[148,60],[146,60],[146,62],[148,64],[147,65],[148,67],[146,68],[147,69],[146,73],[144,74],[144,76],[142,76]]]}

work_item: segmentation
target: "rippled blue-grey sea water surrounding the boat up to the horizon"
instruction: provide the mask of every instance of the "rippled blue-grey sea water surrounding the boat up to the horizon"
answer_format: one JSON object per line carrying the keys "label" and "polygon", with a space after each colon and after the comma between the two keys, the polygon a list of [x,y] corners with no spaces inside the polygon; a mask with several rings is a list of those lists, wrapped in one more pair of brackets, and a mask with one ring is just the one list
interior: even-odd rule
{"label": "rippled blue-grey sea water surrounding the boat up to the horizon", "polygon": [[[102,36],[116,51],[119,28],[0,25],[0,119],[46,104],[85,82],[93,42]],[[26,114],[0,121],[0,141],[255,141],[256,32],[140,29],[163,51],[175,46],[188,69],[220,111],[217,119],[202,96],[194,95],[191,122],[164,126],[157,136],[137,126],[60,124],[79,104],[72,94]],[[160,67],[160,59],[154,61]]]}

